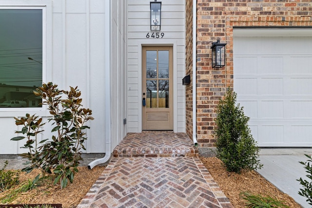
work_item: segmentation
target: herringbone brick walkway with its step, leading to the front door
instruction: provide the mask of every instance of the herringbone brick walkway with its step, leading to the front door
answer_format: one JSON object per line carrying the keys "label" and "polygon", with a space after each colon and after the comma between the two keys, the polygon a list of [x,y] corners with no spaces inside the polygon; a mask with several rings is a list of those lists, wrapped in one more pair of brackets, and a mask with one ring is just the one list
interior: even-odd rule
{"label": "herringbone brick walkway with its step, leading to the front door", "polygon": [[[143,134],[138,133],[137,138]],[[164,134],[177,136],[173,132],[152,132],[148,134],[150,142],[145,143],[147,148],[153,149],[148,145]],[[177,137],[189,142],[185,135]],[[136,141],[133,138],[136,135],[128,134],[121,146],[129,136]],[[170,138],[175,137],[167,139],[170,141]],[[233,208],[198,157],[177,156],[176,153],[164,157],[159,148],[154,148],[158,154],[153,153],[152,157],[130,153],[127,157],[113,157],[77,208]],[[194,148],[192,142],[190,148]],[[122,153],[122,148],[120,151]],[[137,154],[137,149],[131,151]]]}

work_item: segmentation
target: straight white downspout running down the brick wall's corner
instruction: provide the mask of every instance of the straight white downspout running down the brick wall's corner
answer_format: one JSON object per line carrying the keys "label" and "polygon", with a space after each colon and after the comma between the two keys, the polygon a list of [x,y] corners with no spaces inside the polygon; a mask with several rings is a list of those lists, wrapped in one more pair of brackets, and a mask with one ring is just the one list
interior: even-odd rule
{"label": "straight white downspout running down the brick wall's corner", "polygon": [[193,143],[197,147],[196,139],[196,10],[197,1],[193,0]]}

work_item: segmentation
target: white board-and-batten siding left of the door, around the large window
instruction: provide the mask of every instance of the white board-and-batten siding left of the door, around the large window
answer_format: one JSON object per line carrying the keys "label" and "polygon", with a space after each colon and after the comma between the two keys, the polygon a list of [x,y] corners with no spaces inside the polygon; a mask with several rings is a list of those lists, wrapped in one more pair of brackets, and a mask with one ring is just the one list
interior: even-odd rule
{"label": "white board-and-batten siding left of the door, around the large window", "polygon": [[[69,90],[69,86],[78,86],[83,107],[90,108],[95,118],[87,124],[91,128],[87,130],[86,152],[104,152],[106,99],[112,102],[111,97],[114,97],[114,102],[126,102],[125,90],[122,90],[125,89],[125,76],[122,75],[126,73],[126,4],[122,0],[7,0],[2,3],[12,6],[47,4],[43,82],[52,81],[64,90]],[[110,37],[114,41],[107,39]],[[113,85],[110,94],[114,96],[105,94],[107,74],[111,76]],[[126,117],[126,104],[111,104],[110,110],[111,125],[117,125],[110,132],[114,136],[112,145],[116,146],[125,134],[122,121]],[[24,116],[25,113],[36,113],[46,122],[50,115],[45,108],[1,111],[0,154],[22,153],[20,147],[24,141],[10,141],[10,138],[17,136],[14,132],[21,129],[15,125],[13,117]],[[40,139],[51,138],[51,129],[49,123],[44,125]]]}

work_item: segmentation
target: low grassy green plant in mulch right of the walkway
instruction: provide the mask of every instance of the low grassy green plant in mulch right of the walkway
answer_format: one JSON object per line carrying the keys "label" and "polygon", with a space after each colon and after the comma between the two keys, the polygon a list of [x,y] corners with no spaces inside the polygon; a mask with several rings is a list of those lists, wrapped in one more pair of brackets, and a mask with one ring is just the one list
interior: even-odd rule
{"label": "low grassy green plant in mulch right of the walkway", "polygon": [[288,208],[282,201],[271,196],[253,195],[248,192],[240,193],[240,197],[246,200],[246,208]]}

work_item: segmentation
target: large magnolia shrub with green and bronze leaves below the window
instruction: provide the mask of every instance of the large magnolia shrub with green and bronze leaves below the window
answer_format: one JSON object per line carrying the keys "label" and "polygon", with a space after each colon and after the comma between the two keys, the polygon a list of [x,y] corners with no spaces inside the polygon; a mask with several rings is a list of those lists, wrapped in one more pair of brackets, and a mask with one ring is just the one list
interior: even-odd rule
{"label": "large magnolia shrub with green and bronze leaves below the window", "polygon": [[52,140],[39,141],[37,135],[43,132],[44,123],[42,118],[28,113],[25,117],[15,117],[15,124],[23,126],[21,131],[16,133],[24,136],[17,136],[11,140],[27,139],[21,148],[28,149],[28,152],[21,156],[27,158],[30,165],[23,171],[39,169],[43,176],[53,172],[54,183],[59,183],[62,189],[67,186],[68,181],[73,183],[75,172],[78,172],[81,150],[85,150],[83,143],[87,139],[84,130],[89,129],[86,122],[93,120],[93,117],[90,109],[82,108],[81,92],[77,87],[70,87],[70,91],[59,90],[57,87],[58,85],[49,82],[34,92],[35,95],[41,96],[42,104],[47,105],[51,114],[52,118],[48,120],[54,125],[52,132],[56,132]]}

